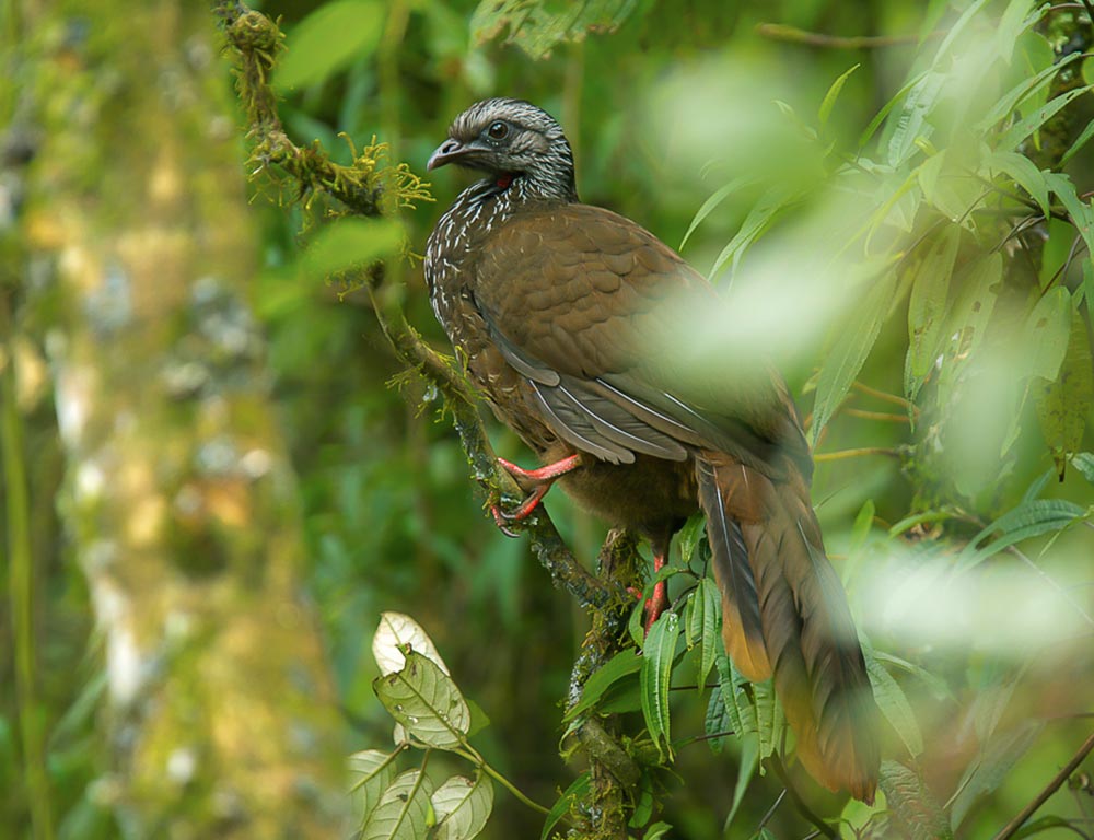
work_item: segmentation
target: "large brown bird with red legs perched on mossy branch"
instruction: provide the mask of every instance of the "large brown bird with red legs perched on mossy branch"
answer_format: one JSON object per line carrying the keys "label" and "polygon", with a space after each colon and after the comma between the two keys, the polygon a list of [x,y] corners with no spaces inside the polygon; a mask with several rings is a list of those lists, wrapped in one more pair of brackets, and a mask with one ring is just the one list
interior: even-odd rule
{"label": "large brown bird with red legs perched on mossy branch", "polygon": [[[701,509],[722,639],[747,679],[773,677],[805,770],[871,802],[877,708],[847,597],[824,549],[813,460],[767,363],[685,350],[715,289],[652,233],[581,203],[559,122],[496,97],[452,121],[427,170],[482,178],[426,246],[430,302],[467,375],[543,466],[501,460],[531,514],[555,483],[650,542],[664,564]],[[660,582],[650,622],[666,607]]]}

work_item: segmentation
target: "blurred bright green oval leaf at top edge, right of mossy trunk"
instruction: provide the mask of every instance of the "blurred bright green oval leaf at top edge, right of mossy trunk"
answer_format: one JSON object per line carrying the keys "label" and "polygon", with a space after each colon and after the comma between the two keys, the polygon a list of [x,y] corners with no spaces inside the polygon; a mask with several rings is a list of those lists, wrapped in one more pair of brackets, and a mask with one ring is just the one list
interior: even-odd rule
{"label": "blurred bright green oval leaf at top edge, right of mossy trunk", "polygon": [[292,31],[274,83],[281,90],[322,84],[353,61],[372,55],[384,26],[375,0],[331,0]]}

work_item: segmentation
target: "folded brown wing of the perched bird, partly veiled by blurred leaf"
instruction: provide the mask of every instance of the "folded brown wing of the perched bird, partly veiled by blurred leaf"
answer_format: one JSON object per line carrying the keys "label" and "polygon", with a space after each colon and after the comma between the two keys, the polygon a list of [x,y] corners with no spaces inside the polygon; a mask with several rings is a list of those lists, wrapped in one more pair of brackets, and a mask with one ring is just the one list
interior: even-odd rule
{"label": "folded brown wing of the perched bird, partly veiled by blurred leaf", "polygon": [[[690,319],[717,305],[718,296],[633,222],[584,205],[525,212],[490,236],[470,273],[475,305],[501,352],[537,383],[556,415],[569,401],[555,390],[565,376],[569,397],[584,405],[601,400],[602,408],[613,404],[615,417],[629,415],[629,431],[654,447],[665,436],[717,446],[764,471],[780,468],[776,455],[784,452],[808,468],[778,374],[765,369],[746,382],[726,368],[697,371],[672,352],[693,331]],[[512,277],[537,282],[517,284]],[[582,445],[577,438],[589,440],[578,429],[558,431],[574,445]],[[600,436],[594,442],[608,453],[609,443],[624,445]],[[626,462],[617,454],[607,459]]]}

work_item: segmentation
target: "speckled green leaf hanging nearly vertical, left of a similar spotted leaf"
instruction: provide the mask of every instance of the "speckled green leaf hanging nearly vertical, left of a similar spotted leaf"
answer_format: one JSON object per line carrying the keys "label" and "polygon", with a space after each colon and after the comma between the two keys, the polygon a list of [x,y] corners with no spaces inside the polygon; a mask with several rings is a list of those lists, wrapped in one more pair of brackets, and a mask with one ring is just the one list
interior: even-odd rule
{"label": "speckled green leaf hanging nearly vertical, left of a similar spotted leaf", "polygon": [[961,238],[958,228],[947,224],[916,270],[908,301],[908,363],[917,383],[933,368],[941,353],[946,318],[946,298]]}

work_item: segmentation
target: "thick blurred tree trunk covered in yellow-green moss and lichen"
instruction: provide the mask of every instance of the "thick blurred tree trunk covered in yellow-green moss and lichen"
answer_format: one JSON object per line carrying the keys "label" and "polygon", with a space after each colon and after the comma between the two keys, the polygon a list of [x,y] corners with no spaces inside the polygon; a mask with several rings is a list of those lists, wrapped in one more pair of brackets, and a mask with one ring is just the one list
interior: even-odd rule
{"label": "thick blurred tree trunk covered in yellow-green moss and lichen", "polygon": [[346,745],[246,301],[257,240],[213,21],[184,0],[21,14],[21,308],[104,640],[105,789],[133,837],[340,836]]}

